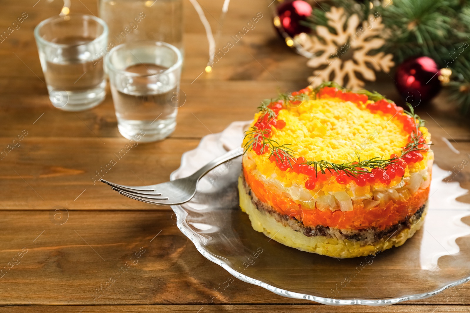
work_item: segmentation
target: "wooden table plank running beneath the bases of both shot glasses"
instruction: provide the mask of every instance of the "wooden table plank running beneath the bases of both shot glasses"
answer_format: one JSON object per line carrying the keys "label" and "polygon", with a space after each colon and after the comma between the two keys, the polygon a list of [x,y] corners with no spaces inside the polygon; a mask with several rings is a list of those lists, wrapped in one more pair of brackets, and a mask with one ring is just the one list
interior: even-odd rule
{"label": "wooden table plank running beneath the bases of both shot glasses", "polygon": [[[283,82],[283,86],[284,90],[289,90],[305,86],[305,83]],[[393,86],[388,86],[382,88],[383,92],[393,95]],[[277,87],[279,84],[272,81],[257,81],[256,84],[251,81],[183,82],[181,88],[186,94],[186,103],[179,110],[178,125],[171,138],[201,138],[222,131],[234,120],[251,119],[259,102],[277,94]],[[37,93],[38,89],[35,90]],[[45,92],[34,97],[32,94],[2,94],[0,101],[2,137],[13,139],[24,129],[39,137],[120,137],[109,96],[93,110],[76,114],[55,109]],[[434,137],[445,137],[452,142],[470,139],[468,123],[454,111],[434,107],[431,110],[418,109]]]}

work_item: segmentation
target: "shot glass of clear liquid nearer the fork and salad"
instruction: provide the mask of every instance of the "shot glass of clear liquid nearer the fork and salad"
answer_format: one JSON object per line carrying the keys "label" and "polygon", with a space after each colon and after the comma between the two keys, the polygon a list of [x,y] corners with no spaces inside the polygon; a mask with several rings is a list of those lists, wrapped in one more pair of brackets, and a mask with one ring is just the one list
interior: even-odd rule
{"label": "shot glass of clear liquid nearer the fork and salad", "polygon": [[105,57],[119,132],[141,142],[162,140],[176,127],[181,53],[161,41],[132,41]]}

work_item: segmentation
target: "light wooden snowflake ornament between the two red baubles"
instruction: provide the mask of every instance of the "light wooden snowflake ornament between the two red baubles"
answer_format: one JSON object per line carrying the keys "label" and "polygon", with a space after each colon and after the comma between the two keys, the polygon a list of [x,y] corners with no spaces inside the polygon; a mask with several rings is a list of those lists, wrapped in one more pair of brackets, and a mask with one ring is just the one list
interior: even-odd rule
{"label": "light wooden snowflake ornament between the two red baubles", "polygon": [[332,7],[326,15],[328,25],[336,34],[319,25],[315,35],[301,33],[295,39],[312,54],[312,58],[307,62],[307,66],[315,69],[313,76],[308,78],[312,86],[318,86],[328,80],[334,80],[343,86],[347,78],[347,88],[360,89],[364,82],[358,77],[358,73],[363,79],[375,81],[375,71],[390,71],[394,65],[393,55],[374,53],[374,50],[381,48],[385,43],[385,40],[379,37],[384,29],[380,16],[369,16],[368,20],[362,23],[362,27],[359,27],[359,17],[353,14],[347,18],[343,8]]}

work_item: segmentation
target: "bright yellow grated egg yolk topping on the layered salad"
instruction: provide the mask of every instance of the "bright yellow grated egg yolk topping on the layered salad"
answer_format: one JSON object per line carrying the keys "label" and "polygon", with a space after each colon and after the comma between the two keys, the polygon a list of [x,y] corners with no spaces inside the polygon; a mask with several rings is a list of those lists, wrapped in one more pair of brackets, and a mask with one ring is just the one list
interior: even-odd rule
{"label": "bright yellow grated egg yolk topping on the layered salad", "polygon": [[[341,164],[357,160],[367,160],[374,157],[390,158],[397,154],[408,143],[409,133],[403,129],[403,124],[393,118],[391,114],[382,112],[372,113],[366,109],[367,103],[357,105],[341,99],[317,99],[302,103],[297,108],[282,109],[277,119],[285,121],[281,129],[272,127],[271,139],[279,145],[289,144],[295,151],[295,157],[305,157],[307,160],[325,160]],[[253,123],[260,114],[255,115]],[[425,127],[420,127],[423,136],[429,142],[429,133]],[[245,142],[246,143],[245,139]],[[422,170],[426,167],[428,153],[424,153],[421,162],[410,164],[409,172]],[[292,183],[303,185],[307,176],[292,171],[281,171],[266,154],[250,154],[256,163],[258,171],[266,177],[281,181],[285,186]],[[397,181],[392,182],[395,185]],[[345,185],[337,184],[336,188],[329,184],[329,188],[343,190]],[[319,185],[318,188],[321,188]],[[317,188],[317,189],[318,189]]]}

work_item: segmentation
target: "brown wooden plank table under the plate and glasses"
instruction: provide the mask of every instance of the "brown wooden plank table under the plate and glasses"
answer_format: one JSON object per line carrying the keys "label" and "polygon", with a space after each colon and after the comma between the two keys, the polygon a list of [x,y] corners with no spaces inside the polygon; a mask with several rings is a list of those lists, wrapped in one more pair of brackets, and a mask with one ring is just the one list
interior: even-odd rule
{"label": "brown wooden plank table under the plate and glasses", "polygon": [[[469,284],[421,301],[374,308],[318,305],[235,279],[212,302],[213,289],[230,275],[197,252],[175,226],[171,209],[130,200],[94,182],[96,171],[128,141],[118,133],[110,94],[97,108],[79,113],[50,104],[33,29],[59,13],[62,2],[36,1],[2,1],[0,11],[1,32],[23,12],[28,16],[0,43],[0,149],[27,132],[20,146],[0,160],[0,267],[17,263],[16,254],[27,251],[0,278],[0,312],[470,312]],[[200,2],[215,30],[223,1]],[[168,180],[181,154],[194,149],[202,136],[251,119],[259,101],[277,88],[306,86],[311,70],[304,57],[278,39],[268,2],[230,3],[219,47],[258,12],[263,17],[210,74],[203,73],[208,60],[204,28],[189,2],[184,5],[181,88],[187,101],[177,129],[162,142],[130,150],[105,173],[108,180],[129,185]],[[71,11],[96,15],[97,5],[74,0]],[[388,83],[368,87],[397,98],[391,79],[381,79]],[[444,96],[434,102],[426,108],[429,116],[421,110],[434,138],[445,137],[463,153],[470,152],[468,122]],[[469,175],[465,168],[457,177],[465,188],[470,187]],[[146,252],[138,264],[94,301],[96,289],[141,247]]]}

